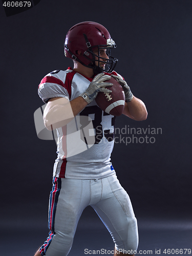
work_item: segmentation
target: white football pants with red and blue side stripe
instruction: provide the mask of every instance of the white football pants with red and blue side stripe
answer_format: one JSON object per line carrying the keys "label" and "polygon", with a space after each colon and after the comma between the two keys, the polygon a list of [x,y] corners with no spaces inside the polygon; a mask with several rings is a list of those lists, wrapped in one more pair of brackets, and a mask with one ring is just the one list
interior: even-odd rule
{"label": "white football pants with red and blue side stripe", "polygon": [[77,223],[88,205],[108,228],[116,249],[137,250],[137,220],[130,198],[116,175],[95,180],[54,177],[49,206],[50,233],[40,248],[41,255],[68,255]]}

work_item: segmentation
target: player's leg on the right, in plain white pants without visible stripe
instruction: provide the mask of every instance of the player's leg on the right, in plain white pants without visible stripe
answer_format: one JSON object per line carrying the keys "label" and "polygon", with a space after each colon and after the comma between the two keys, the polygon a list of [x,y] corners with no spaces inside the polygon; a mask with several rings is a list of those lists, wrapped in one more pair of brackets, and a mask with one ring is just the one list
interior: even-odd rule
{"label": "player's leg on the right, in plain white pants without visible stripe", "polygon": [[102,199],[91,206],[111,233],[116,254],[133,255],[138,247],[138,230],[130,198],[116,175],[102,179],[102,183]]}

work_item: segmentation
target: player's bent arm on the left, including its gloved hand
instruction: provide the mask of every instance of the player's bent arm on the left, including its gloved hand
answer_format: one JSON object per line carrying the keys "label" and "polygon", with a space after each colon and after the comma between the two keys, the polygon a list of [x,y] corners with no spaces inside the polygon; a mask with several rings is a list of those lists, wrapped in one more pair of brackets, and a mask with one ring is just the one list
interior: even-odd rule
{"label": "player's bent arm on the left, including its gloved hand", "polygon": [[90,83],[87,91],[71,101],[64,97],[50,99],[44,110],[44,124],[47,129],[52,131],[68,124],[87,104],[96,98],[98,92],[111,92],[103,88],[113,85],[103,82],[109,79],[110,76],[108,75],[98,74]]}

